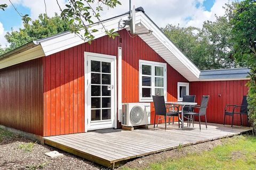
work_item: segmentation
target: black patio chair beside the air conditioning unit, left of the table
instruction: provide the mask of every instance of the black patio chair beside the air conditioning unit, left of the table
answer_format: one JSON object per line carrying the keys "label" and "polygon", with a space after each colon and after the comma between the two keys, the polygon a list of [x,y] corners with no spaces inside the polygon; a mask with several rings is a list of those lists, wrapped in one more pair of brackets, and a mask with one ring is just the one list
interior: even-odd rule
{"label": "black patio chair beside the air conditioning unit, left of the table", "polygon": [[[164,101],[164,96],[152,96],[153,97],[153,102],[155,106],[155,119],[154,119],[154,128],[155,128],[155,122],[156,122],[156,115],[159,116],[164,116],[164,122],[165,122],[165,130],[166,130],[166,117],[167,116],[177,116],[179,117],[179,107],[177,106],[170,106],[166,107],[165,106],[165,101]],[[172,110],[170,108],[173,108]],[[177,108],[177,110],[175,110]],[[166,109],[169,111],[167,112]],[[163,118],[158,117],[157,120],[157,126],[159,120],[162,120]],[[179,128],[180,128],[180,121],[179,121]]]}

